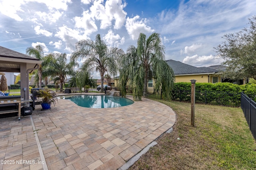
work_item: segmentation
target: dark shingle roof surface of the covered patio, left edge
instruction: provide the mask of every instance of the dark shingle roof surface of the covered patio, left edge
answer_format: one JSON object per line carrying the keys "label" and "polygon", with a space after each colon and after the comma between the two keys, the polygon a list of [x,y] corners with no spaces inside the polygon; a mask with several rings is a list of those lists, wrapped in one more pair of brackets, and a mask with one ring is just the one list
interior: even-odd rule
{"label": "dark shingle roof surface of the covered patio, left edge", "polygon": [[17,51],[13,51],[11,49],[7,49],[7,48],[2,47],[2,46],[0,46],[0,57],[39,61],[39,59],[36,59],[34,57],[30,57],[28,55],[24,55],[22,53],[19,53]]}

